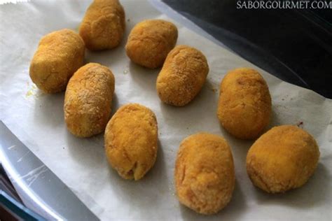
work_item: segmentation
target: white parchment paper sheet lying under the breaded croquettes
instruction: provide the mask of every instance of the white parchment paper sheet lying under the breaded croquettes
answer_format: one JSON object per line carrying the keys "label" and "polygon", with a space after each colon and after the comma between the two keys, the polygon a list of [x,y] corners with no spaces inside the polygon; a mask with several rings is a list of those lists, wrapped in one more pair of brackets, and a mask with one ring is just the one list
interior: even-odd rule
{"label": "white parchment paper sheet lying under the breaded croquettes", "polygon": [[[332,102],[310,90],[284,83],[219,45],[181,26],[177,44],[206,55],[207,82],[183,108],[162,104],[155,91],[159,70],[148,70],[125,55],[127,34],[147,18],[170,20],[146,1],[122,1],[126,34],[114,50],[88,52],[86,62],[109,66],[116,77],[113,113],[137,102],[158,119],[160,148],[155,166],[137,182],[123,180],[109,168],[103,136],[76,138],[64,124],[64,93],[43,94],[29,79],[29,62],[41,36],[57,29],[77,31],[88,1],[34,1],[0,6],[1,120],[102,220],[331,220]],[[321,157],[305,186],[286,194],[266,194],[247,176],[245,157],[254,141],[230,136],[216,117],[219,83],[241,66],[258,69],[272,96],[271,125],[299,124],[319,143]],[[316,73],[312,73],[316,74]],[[317,73],[318,74],[318,73]],[[301,123],[302,122],[302,123]],[[269,128],[270,128],[269,127]],[[174,160],[179,143],[198,131],[224,136],[235,159],[236,187],[230,204],[217,215],[202,216],[181,206],[174,193]]]}

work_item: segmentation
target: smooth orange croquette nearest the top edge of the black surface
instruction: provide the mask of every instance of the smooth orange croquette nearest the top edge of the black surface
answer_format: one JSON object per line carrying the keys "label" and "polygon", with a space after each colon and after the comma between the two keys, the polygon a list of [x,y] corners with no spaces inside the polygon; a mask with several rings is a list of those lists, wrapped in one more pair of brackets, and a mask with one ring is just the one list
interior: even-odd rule
{"label": "smooth orange croquette nearest the top edge of the black surface", "polygon": [[125,52],[132,62],[155,69],[177,43],[177,27],[165,20],[144,20],[128,36]]}

